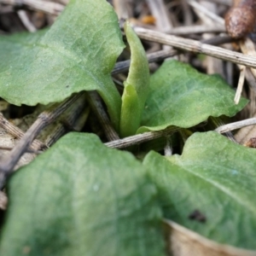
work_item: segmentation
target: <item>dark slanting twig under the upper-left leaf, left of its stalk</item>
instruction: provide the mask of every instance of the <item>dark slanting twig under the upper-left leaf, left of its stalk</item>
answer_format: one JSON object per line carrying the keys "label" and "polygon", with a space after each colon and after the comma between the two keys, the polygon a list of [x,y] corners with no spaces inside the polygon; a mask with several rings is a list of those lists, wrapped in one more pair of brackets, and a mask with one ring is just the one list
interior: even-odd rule
{"label": "dark slanting twig under the upper-left leaf, left of its stalk", "polygon": [[90,104],[90,108],[96,114],[97,119],[102,125],[102,129],[108,138],[108,141],[118,140],[119,136],[116,131],[113,129],[113,125],[111,125],[110,120],[108,119],[108,114],[103,108],[101,98],[98,96],[96,91],[88,91],[87,99]]}

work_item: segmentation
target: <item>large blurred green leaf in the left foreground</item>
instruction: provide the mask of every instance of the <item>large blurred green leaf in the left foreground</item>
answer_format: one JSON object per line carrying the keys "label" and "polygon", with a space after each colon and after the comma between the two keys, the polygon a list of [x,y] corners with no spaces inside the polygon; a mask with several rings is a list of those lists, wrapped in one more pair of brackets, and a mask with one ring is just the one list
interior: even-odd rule
{"label": "large blurred green leaf in the left foreground", "polygon": [[164,255],[154,184],[95,135],[62,137],[10,178],[8,194],[0,255]]}

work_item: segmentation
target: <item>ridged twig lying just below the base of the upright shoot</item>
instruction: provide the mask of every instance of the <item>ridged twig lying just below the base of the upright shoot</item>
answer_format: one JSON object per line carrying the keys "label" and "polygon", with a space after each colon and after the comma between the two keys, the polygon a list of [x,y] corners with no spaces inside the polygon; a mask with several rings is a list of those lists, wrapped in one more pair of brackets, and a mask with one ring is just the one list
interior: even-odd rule
{"label": "ridged twig lying just below the base of the upright shoot", "polygon": [[125,137],[110,143],[105,143],[109,148],[128,148],[133,145],[151,141],[155,138],[164,137],[178,131],[180,128],[176,126],[170,126],[161,131],[147,131],[142,134],[137,134],[131,137]]}

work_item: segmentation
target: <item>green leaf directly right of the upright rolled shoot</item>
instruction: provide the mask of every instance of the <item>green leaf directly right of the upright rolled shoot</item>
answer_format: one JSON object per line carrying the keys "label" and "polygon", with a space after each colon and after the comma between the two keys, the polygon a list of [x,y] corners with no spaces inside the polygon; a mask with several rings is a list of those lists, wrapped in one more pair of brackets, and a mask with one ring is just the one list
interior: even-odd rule
{"label": "green leaf directly right of the upright rolled shoot", "polygon": [[179,61],[165,61],[151,76],[150,93],[137,133],[176,125],[188,128],[209,116],[233,116],[247,100],[234,103],[235,91],[218,75],[206,75]]}

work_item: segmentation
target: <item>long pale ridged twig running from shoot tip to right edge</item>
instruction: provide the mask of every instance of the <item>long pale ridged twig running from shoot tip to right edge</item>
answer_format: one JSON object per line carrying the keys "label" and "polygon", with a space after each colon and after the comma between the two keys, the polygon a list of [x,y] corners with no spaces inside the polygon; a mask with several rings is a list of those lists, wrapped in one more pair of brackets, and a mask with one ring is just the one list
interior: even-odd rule
{"label": "long pale ridged twig running from shoot tip to right edge", "polygon": [[140,38],[146,39],[148,41],[171,45],[177,49],[210,55],[224,61],[231,61],[247,67],[256,67],[256,57],[243,55],[230,49],[223,49],[209,44],[202,44],[196,40],[166,35],[165,33],[155,32],[153,30],[148,30],[142,27],[135,27],[134,30],[137,32],[137,35]]}

